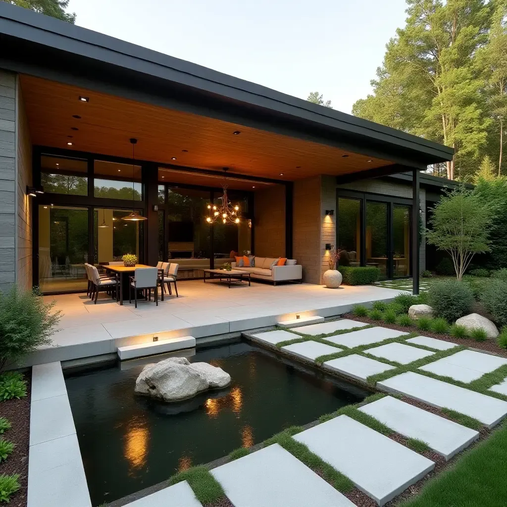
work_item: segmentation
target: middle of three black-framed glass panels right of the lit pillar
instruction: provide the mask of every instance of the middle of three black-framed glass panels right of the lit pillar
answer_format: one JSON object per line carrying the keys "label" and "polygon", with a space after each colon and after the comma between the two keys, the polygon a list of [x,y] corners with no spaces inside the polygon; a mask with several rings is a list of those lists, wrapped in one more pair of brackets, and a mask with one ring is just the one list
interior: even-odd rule
{"label": "middle of three black-framed glass panels right of the lit pillar", "polygon": [[388,204],[366,202],[366,265],[380,269],[381,278],[388,273]]}

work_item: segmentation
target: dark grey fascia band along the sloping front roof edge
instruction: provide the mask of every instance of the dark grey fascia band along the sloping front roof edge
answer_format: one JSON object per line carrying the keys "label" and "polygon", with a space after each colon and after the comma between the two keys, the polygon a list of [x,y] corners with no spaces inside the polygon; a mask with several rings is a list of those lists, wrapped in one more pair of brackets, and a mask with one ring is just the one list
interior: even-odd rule
{"label": "dark grey fascia band along the sloping front roof edge", "polygon": [[[0,2],[0,34],[67,53],[81,55],[140,75],[261,107],[272,115],[288,115],[321,128],[394,144],[425,160],[450,160],[453,150],[331,108],[312,104],[201,65],[180,60],[102,33]],[[112,68],[114,70],[114,68]],[[100,79],[100,76],[96,76]]]}

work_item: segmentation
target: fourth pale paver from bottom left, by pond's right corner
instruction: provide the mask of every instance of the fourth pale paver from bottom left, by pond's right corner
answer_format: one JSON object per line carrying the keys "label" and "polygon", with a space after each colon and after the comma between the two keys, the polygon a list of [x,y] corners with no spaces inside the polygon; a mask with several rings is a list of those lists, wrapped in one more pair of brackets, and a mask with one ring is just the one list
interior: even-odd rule
{"label": "fourth pale paver from bottom left, by pond's right corner", "polygon": [[438,452],[445,459],[452,458],[479,438],[478,431],[414,407],[392,396],[385,396],[376,402],[360,407],[359,410],[375,417],[407,438],[426,442],[433,451]]}

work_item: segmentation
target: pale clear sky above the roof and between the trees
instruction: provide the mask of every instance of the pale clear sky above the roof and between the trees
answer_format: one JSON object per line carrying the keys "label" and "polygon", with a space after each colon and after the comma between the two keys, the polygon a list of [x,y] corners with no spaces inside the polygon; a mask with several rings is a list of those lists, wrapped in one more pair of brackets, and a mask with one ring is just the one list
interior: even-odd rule
{"label": "pale clear sky above the roof and between the trees", "polygon": [[371,92],[405,0],[70,0],[76,24],[335,109]]}

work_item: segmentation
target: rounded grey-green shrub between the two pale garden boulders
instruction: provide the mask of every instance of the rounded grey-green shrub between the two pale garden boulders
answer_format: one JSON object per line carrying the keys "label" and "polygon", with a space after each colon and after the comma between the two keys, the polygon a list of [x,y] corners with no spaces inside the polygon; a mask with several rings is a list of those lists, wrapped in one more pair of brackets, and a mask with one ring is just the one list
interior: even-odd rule
{"label": "rounded grey-green shrub between the two pale garden boulders", "polygon": [[474,296],[470,287],[458,280],[439,280],[431,284],[428,302],[437,317],[454,322],[472,306]]}

